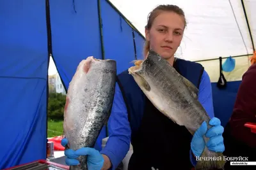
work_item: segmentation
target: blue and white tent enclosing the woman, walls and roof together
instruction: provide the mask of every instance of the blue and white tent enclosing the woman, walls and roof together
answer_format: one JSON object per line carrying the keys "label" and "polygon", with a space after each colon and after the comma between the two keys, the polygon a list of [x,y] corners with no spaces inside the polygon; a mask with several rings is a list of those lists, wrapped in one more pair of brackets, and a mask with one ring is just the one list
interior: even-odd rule
{"label": "blue and white tent enclosing the woman, walls and roof together", "polygon": [[[240,82],[236,80],[241,80],[242,73],[250,66],[247,55],[253,53],[256,12],[252,8],[256,1],[242,2],[172,1],[185,11],[188,20],[176,56],[186,60],[216,59],[200,62],[213,82],[216,115],[232,110]],[[91,55],[115,59],[120,73],[132,66],[132,60],[142,57],[148,13],[157,4],[168,3],[163,0],[0,1],[3,138],[0,169],[46,158],[49,56],[52,55],[65,89],[79,62]],[[214,84],[218,78],[218,57],[230,55],[245,57],[237,57],[236,68],[227,73],[228,89],[221,91]],[[230,100],[221,93],[230,96]],[[229,107],[221,106],[225,101],[230,101]],[[97,141],[99,145],[104,137],[103,130]]]}

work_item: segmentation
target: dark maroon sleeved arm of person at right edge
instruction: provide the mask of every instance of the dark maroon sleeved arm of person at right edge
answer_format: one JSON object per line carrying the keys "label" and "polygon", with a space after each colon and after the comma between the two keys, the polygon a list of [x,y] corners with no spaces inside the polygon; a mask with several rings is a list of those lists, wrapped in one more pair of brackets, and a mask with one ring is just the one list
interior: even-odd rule
{"label": "dark maroon sleeved arm of person at right edge", "polygon": [[244,127],[246,122],[256,123],[256,64],[243,75],[230,118],[231,134],[251,148],[256,148],[256,134]]}

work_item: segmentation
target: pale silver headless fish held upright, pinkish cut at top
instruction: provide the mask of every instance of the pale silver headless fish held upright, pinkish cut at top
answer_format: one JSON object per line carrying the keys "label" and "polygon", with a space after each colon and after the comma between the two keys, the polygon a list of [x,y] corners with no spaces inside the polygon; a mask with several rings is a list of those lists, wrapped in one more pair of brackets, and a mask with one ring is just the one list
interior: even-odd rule
{"label": "pale silver headless fish held upright, pinkish cut at top", "polygon": [[[91,147],[111,113],[116,83],[116,61],[88,57],[77,67],[70,81],[64,110],[63,133],[67,148]],[[88,169],[87,156],[78,158],[79,166]]]}

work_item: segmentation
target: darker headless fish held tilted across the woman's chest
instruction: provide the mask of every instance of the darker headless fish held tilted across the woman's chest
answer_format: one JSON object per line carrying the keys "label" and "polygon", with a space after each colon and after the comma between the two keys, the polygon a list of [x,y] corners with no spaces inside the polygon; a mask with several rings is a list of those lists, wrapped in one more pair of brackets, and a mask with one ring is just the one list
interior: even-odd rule
{"label": "darker headless fish held tilted across the woman's chest", "polygon": [[[145,60],[137,60],[136,66],[129,68],[145,96],[166,117],[179,125],[184,125],[193,135],[205,121],[207,129],[211,128],[204,107],[198,101],[198,89],[189,80],[181,76],[165,59],[150,50]],[[209,138],[204,136],[205,143]],[[195,169],[223,169],[225,160],[222,153],[211,152],[205,146]]]}

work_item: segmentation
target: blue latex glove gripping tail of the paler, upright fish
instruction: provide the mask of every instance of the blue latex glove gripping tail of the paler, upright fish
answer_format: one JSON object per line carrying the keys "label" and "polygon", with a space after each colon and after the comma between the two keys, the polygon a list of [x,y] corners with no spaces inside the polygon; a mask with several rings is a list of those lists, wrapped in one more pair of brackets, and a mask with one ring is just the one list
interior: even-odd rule
{"label": "blue latex glove gripping tail of the paler, upright fish", "polygon": [[[68,140],[63,138],[61,140],[61,145],[66,146]],[[74,151],[71,149],[65,150],[64,154],[67,156],[65,162],[68,166],[76,166],[79,164],[77,157],[81,155],[88,155],[87,165],[88,169],[101,169],[104,163],[104,159],[99,151],[95,150],[94,148],[79,148],[78,150]]]}

